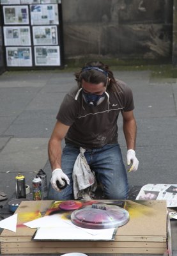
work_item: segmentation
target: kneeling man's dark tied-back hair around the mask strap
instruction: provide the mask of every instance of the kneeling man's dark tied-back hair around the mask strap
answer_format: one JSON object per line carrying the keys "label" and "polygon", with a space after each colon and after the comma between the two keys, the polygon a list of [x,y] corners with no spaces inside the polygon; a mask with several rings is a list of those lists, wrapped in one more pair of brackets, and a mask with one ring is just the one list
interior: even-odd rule
{"label": "kneeling man's dark tied-back hair around the mask strap", "polygon": [[[93,67],[93,69],[91,67]],[[118,85],[112,71],[109,70],[108,65],[105,65],[101,61],[90,61],[86,63],[79,72],[75,72],[75,80],[79,88],[82,86],[82,79],[93,84],[104,83],[104,86],[107,85],[108,90],[112,89],[118,91]]]}

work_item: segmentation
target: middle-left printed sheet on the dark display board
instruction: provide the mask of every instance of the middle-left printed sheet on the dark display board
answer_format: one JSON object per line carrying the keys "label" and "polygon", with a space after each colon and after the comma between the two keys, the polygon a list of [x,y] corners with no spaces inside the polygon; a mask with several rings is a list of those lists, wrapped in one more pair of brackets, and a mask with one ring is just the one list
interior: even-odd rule
{"label": "middle-left printed sheet on the dark display board", "polygon": [[31,45],[29,26],[4,26],[4,45]]}

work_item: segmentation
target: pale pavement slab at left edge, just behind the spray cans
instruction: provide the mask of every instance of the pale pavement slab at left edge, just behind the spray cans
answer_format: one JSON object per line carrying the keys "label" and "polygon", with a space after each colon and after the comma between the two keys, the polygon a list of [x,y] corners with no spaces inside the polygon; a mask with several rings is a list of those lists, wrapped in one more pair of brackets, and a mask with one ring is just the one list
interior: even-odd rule
{"label": "pale pavement slab at left edge, just behind the spray cans", "polygon": [[26,173],[43,168],[48,141],[49,138],[11,138],[1,150],[1,173]]}

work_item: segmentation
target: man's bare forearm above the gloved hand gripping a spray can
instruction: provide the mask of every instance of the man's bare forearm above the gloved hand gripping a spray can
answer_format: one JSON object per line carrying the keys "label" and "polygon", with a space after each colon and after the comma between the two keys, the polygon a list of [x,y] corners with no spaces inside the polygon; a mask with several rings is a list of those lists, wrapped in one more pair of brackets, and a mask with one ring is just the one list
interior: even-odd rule
{"label": "man's bare forearm above the gloved hand gripping a spray can", "polygon": [[61,141],[49,140],[48,155],[52,170],[61,168]]}

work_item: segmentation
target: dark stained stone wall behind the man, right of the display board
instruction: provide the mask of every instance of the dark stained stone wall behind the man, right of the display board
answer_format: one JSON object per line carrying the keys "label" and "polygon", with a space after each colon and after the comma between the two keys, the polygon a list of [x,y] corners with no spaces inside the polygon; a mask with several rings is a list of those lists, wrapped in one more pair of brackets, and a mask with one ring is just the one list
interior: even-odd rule
{"label": "dark stained stone wall behind the man, right of the display board", "polygon": [[66,60],[171,60],[173,0],[64,0],[62,10]]}

